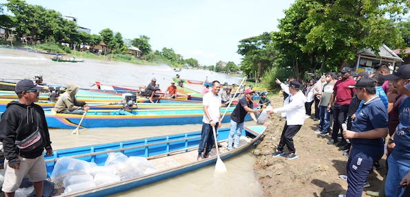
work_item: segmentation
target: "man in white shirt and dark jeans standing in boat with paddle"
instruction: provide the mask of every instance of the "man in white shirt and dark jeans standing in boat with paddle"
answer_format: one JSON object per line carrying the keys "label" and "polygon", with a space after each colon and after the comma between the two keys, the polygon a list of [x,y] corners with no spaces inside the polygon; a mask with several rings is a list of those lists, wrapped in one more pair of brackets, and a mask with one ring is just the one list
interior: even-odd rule
{"label": "man in white shirt and dark jeans standing in boat with paddle", "polygon": [[[198,156],[199,158],[208,158],[209,152],[213,148],[213,129],[217,132],[217,128],[221,126],[221,97],[218,95],[221,90],[221,83],[218,81],[212,82],[211,91],[206,93],[202,99],[204,105],[204,118],[202,118],[202,133],[201,142],[199,142]],[[202,155],[202,153],[204,153]]]}

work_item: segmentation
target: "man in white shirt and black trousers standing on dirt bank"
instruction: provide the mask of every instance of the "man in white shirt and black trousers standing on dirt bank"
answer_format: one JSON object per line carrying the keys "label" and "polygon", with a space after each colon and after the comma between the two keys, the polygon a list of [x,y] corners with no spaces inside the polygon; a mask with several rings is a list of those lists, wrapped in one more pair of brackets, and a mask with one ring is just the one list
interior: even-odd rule
{"label": "man in white shirt and black trousers standing on dirt bank", "polygon": [[300,91],[300,88],[302,88],[302,84],[296,81],[291,82],[289,84],[289,93],[291,93],[289,104],[270,111],[270,113],[286,113],[286,122],[282,131],[280,143],[277,145],[277,150],[273,153],[273,157],[284,156],[283,148],[286,144],[286,147],[289,149],[286,160],[294,160],[298,158],[295,146],[293,145],[293,136],[295,136],[302,127],[304,123],[304,115],[306,113],[304,109],[306,97],[302,91]]}

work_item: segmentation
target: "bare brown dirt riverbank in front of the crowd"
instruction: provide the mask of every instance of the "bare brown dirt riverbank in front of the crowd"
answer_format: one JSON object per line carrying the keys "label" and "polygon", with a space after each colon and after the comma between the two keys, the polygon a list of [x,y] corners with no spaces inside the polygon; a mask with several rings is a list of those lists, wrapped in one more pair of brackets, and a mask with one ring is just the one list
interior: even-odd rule
{"label": "bare brown dirt riverbank in front of the crowd", "polygon": [[[273,107],[282,106],[283,97],[270,97]],[[314,108],[312,106],[312,114]],[[335,145],[326,144],[330,135],[322,137],[313,131],[319,122],[309,118],[293,138],[297,160],[273,158],[271,155],[280,141],[284,120],[280,114],[273,114],[264,133],[264,140],[257,145],[255,172],[264,190],[264,196],[338,196],[346,194],[347,182],[339,178],[346,174],[347,157]],[[370,187],[365,191],[377,191],[382,182],[385,169],[385,156],[380,160],[381,169],[373,169],[369,174]]]}

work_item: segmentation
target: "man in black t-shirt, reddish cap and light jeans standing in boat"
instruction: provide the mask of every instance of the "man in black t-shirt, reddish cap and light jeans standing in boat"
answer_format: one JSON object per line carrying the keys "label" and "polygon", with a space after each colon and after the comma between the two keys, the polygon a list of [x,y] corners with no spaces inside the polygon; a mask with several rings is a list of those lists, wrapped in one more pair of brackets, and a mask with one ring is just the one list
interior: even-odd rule
{"label": "man in black t-shirt, reddish cap and light jeans standing in boat", "polygon": [[242,130],[244,130],[244,121],[246,114],[251,113],[251,118],[255,122],[257,122],[255,113],[259,115],[259,111],[253,110],[252,97],[255,91],[253,91],[251,88],[248,88],[244,93],[245,96],[242,97],[231,114],[231,131],[229,131],[228,135],[228,150],[231,150],[232,147],[236,149],[239,146]]}

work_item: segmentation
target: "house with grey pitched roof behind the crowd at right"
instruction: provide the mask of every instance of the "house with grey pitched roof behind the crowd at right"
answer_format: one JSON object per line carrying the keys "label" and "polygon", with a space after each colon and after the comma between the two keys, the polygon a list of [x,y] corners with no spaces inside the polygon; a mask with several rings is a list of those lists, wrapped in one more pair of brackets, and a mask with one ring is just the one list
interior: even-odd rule
{"label": "house with grey pitched roof behind the crowd at right", "polygon": [[375,55],[370,49],[364,49],[358,53],[355,71],[357,73],[366,71],[370,74],[375,70],[372,66],[387,64],[388,66],[393,66],[393,68],[395,68],[396,66],[400,66],[403,62],[402,58],[396,55],[396,53],[393,53],[389,47],[383,44],[379,47],[379,55]]}

